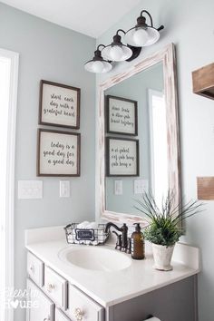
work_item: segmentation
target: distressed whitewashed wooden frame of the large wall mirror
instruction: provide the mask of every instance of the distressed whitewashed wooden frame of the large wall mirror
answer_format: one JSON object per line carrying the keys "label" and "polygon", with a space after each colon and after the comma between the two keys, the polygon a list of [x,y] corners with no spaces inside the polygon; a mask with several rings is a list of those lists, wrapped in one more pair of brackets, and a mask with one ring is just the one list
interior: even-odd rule
{"label": "distressed whitewashed wooden frame of the large wall mirror", "polygon": [[126,222],[127,224],[136,221],[145,223],[141,216],[113,212],[105,209],[105,120],[104,120],[104,91],[116,83],[130,78],[136,73],[151,67],[156,63],[163,64],[164,94],[167,112],[167,141],[168,141],[168,163],[169,163],[169,188],[174,190],[176,202],[180,201],[180,138],[179,138],[179,117],[178,117],[178,97],[176,78],[175,46],[169,44],[158,53],[154,53],[148,58],[131,66],[125,73],[113,76],[108,81],[100,85],[99,92],[99,148],[97,149],[97,189],[96,208],[99,211],[99,219],[114,222]]}

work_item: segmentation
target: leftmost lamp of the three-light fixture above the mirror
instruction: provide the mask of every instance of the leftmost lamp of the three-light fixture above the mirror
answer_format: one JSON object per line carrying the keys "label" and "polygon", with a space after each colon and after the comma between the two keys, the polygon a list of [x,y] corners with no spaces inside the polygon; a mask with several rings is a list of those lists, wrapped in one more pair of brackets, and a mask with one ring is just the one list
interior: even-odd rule
{"label": "leftmost lamp of the three-light fixture above the mirror", "polygon": [[84,64],[87,72],[91,73],[108,73],[112,69],[112,63],[102,58],[100,47],[105,47],[104,44],[99,44],[94,52],[92,60]]}

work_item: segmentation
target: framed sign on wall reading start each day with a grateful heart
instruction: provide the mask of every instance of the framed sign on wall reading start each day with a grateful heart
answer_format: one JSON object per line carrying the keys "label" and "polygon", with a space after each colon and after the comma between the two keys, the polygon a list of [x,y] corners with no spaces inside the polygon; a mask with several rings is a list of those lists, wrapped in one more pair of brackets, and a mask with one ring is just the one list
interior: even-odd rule
{"label": "framed sign on wall reading start each day with a grateful heart", "polygon": [[80,128],[80,88],[61,83],[40,82],[39,123]]}

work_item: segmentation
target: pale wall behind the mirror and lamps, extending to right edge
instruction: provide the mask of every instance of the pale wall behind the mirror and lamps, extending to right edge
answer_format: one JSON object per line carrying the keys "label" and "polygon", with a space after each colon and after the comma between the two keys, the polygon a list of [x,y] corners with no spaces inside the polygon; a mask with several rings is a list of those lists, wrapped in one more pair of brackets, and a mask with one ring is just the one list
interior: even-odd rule
{"label": "pale wall behind the mirror and lamps, extending to right edge", "polygon": [[[97,44],[110,44],[119,28],[128,30],[142,9],[148,10],[156,27],[165,25],[160,41],[145,48],[141,57],[154,53],[166,44],[177,49],[182,193],[197,198],[196,178],[214,175],[214,104],[192,93],[191,72],[214,60],[213,0],[141,0],[129,15],[102,35]],[[124,71],[131,63],[120,63],[111,73],[97,78],[97,85],[112,74]],[[214,202],[206,202],[206,210],[189,220],[184,241],[201,249],[202,272],[199,275],[199,321],[212,321],[214,316]]]}

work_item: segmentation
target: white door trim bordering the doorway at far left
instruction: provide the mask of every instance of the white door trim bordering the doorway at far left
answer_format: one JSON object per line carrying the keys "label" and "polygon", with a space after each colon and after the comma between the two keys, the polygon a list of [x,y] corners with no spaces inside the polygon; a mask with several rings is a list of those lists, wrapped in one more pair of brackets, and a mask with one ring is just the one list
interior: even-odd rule
{"label": "white door trim bordering the doorway at far left", "polygon": [[[14,288],[14,210],[15,210],[15,130],[19,53],[0,48],[0,55],[11,60],[10,99],[7,132],[6,217],[5,217],[5,285]],[[14,309],[5,309],[5,320],[14,320]]]}

